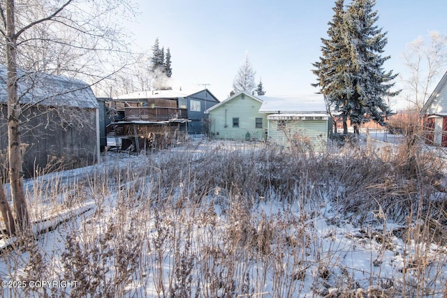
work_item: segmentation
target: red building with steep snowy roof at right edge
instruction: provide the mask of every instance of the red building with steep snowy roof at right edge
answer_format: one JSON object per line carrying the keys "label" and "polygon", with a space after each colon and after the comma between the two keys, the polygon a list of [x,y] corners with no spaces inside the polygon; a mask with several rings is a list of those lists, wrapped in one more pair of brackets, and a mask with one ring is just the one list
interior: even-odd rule
{"label": "red building with steep snowy roof at right edge", "polygon": [[447,147],[447,72],[420,111],[427,142]]}

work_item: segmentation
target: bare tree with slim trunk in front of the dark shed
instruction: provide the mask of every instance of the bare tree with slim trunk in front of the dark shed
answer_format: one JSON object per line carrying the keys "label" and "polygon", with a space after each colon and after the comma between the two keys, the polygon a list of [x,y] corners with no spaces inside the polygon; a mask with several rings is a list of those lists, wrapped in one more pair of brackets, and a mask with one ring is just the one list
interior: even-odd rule
{"label": "bare tree with slim trunk in front of the dark shed", "polygon": [[[18,82],[45,72],[98,84],[117,73],[128,63],[129,53],[122,42],[124,31],[112,22],[118,12],[133,13],[133,7],[124,0],[0,0],[1,57],[6,57],[0,60],[7,68],[8,177],[16,225],[8,232],[30,226],[22,178],[23,107]],[[7,211],[3,206],[2,213]]]}

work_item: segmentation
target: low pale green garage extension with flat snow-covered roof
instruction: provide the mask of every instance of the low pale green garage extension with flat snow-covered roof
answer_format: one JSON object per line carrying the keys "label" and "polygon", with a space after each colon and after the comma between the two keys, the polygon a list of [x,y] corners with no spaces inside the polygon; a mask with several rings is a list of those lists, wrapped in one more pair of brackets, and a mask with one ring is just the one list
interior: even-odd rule
{"label": "low pale green garage extension with flat snow-covered roof", "polygon": [[322,94],[301,96],[258,96],[259,112],[268,114],[268,140],[276,144],[307,142],[321,148],[328,142],[330,116]]}

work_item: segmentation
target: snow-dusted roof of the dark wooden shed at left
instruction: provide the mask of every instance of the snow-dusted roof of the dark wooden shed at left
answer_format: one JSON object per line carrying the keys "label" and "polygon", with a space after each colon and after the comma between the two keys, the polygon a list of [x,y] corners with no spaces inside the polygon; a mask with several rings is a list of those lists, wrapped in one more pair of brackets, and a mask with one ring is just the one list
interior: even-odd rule
{"label": "snow-dusted roof of the dark wooden shed at left", "polygon": [[[30,105],[98,108],[89,84],[70,77],[17,70],[20,103]],[[0,103],[6,103],[6,66],[0,65]]]}

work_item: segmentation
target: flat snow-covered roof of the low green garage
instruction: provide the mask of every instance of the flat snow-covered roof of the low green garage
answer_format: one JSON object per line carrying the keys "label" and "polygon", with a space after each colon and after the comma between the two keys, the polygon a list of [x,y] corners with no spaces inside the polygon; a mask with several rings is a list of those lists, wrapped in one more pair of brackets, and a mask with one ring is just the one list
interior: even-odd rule
{"label": "flat snow-covered roof of the low green garage", "polygon": [[263,113],[318,113],[326,114],[323,94],[295,96],[257,96],[263,100],[259,112]]}

